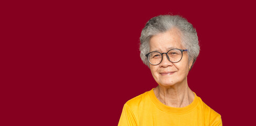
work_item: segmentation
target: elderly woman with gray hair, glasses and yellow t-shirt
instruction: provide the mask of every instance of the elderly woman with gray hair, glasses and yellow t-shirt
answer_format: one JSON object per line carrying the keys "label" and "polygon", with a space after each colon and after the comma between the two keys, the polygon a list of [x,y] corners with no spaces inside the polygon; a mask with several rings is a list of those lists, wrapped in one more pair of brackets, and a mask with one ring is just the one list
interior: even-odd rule
{"label": "elderly woman with gray hair, glasses and yellow t-shirt", "polygon": [[158,86],[127,101],[118,125],[222,125],[188,86],[199,50],[197,31],[185,18],[151,18],[141,31],[140,57]]}

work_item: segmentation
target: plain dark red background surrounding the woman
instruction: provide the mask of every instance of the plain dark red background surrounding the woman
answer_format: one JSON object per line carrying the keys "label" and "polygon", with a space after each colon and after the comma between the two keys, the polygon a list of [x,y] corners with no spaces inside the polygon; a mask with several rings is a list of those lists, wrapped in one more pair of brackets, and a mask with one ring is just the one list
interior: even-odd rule
{"label": "plain dark red background surrounding the woman", "polygon": [[158,15],[198,31],[190,88],[224,125],[255,113],[255,7],[201,1],[19,1],[1,4],[0,125],[117,125],[125,102],[157,86],[139,37]]}

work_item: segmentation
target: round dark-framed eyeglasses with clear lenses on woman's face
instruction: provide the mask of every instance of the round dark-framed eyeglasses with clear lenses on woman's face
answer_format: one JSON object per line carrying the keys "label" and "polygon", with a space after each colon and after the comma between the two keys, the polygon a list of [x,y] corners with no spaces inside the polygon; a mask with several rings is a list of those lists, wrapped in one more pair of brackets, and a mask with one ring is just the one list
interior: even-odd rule
{"label": "round dark-framed eyeglasses with clear lenses on woman's face", "polygon": [[188,49],[171,49],[167,53],[159,53],[158,51],[151,51],[146,54],[148,61],[151,65],[159,65],[162,61],[162,55],[166,54],[167,59],[170,62],[176,63],[182,59],[183,51],[188,51]]}

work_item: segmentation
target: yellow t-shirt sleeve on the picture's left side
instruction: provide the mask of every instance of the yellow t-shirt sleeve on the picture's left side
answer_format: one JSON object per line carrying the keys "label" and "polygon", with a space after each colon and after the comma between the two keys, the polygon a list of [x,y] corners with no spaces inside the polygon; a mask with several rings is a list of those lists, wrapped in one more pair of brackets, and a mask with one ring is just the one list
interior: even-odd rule
{"label": "yellow t-shirt sleeve on the picture's left side", "polygon": [[128,104],[125,104],[124,108],[122,109],[122,114],[118,123],[118,126],[126,126],[126,125],[129,125],[129,126],[137,125],[134,112],[132,112]]}

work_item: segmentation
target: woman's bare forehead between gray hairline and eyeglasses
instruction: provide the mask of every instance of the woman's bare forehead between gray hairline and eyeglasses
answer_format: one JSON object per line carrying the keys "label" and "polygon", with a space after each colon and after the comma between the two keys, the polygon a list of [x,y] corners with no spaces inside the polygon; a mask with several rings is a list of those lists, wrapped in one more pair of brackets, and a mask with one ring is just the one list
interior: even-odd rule
{"label": "woman's bare forehead between gray hairline and eyeglasses", "polygon": [[152,36],[149,45],[150,51],[168,51],[172,48],[183,49],[181,33],[177,28]]}

